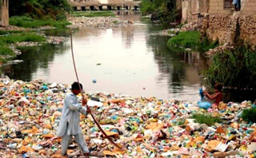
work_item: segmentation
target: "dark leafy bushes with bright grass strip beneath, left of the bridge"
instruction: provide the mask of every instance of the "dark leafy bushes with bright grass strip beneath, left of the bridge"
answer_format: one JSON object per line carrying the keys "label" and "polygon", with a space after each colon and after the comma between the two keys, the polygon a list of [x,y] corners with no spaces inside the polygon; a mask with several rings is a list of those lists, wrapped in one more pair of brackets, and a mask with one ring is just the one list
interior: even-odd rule
{"label": "dark leafy bushes with bright grass strip beneath, left of the bridge", "polygon": [[71,6],[66,0],[18,0],[10,1],[10,25],[24,28],[41,26],[65,27],[66,14]]}

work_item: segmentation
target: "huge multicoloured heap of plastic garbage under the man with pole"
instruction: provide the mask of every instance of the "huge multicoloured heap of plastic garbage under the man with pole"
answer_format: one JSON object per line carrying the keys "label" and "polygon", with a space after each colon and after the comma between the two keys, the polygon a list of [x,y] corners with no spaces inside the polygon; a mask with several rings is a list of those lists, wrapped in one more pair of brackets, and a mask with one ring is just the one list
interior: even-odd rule
{"label": "huge multicoloured heap of plastic garbage under the man with pole", "polygon": [[[62,105],[70,85],[44,81],[0,79],[0,157],[60,158],[61,138],[56,136]],[[156,97],[130,97],[86,93],[101,104],[90,105],[106,134],[124,151],[114,148],[90,116],[81,115],[81,127],[91,151],[111,157],[254,157],[255,124],[239,116],[251,103],[221,103],[220,109],[199,109],[196,103]],[[78,95],[81,99],[81,95]],[[222,123],[199,124],[194,113],[211,113]],[[251,136],[251,133],[253,135]],[[68,155],[82,157],[71,142]]]}

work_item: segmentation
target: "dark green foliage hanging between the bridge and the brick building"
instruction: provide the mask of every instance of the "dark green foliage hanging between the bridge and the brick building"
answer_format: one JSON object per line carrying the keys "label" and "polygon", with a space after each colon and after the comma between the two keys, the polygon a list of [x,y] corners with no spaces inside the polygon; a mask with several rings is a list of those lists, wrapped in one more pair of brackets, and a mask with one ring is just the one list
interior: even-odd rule
{"label": "dark green foliage hanging between the bridge and the brick building", "polygon": [[159,20],[167,25],[178,18],[176,0],[142,0],[141,11],[142,14],[151,14],[151,20]]}

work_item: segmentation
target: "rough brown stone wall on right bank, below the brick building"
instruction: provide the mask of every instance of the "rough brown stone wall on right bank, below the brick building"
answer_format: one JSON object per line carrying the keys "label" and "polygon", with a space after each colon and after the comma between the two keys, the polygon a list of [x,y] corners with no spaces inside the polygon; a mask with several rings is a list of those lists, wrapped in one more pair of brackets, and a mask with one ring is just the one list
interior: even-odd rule
{"label": "rough brown stone wall on right bank, below the brick building", "polygon": [[202,36],[221,44],[235,44],[242,39],[246,44],[256,46],[256,16],[242,14],[210,14],[203,19]]}

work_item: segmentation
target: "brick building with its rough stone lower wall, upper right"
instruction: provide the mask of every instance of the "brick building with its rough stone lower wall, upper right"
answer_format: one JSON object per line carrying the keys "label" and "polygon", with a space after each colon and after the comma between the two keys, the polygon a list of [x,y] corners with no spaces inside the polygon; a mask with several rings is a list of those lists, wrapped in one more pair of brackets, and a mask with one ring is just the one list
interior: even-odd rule
{"label": "brick building with its rough stone lower wall, upper right", "polygon": [[[235,4],[233,4],[235,2]],[[182,22],[200,19],[202,36],[256,48],[256,0],[182,0]]]}

